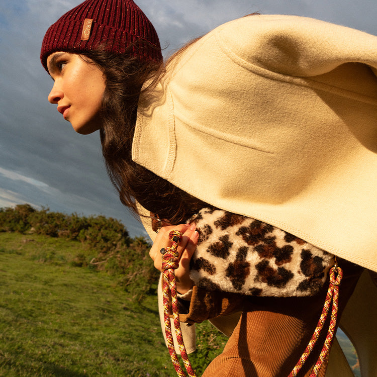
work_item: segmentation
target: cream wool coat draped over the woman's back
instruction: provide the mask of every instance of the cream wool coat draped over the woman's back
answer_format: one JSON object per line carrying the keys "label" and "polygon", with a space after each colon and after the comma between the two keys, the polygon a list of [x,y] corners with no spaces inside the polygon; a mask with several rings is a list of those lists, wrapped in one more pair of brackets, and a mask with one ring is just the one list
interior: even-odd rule
{"label": "cream wool coat draped over the woman's back", "polygon": [[[211,205],[377,271],[376,74],[375,36],[297,16],[231,21],[140,102],[133,159]],[[353,307],[375,314],[373,295]],[[377,349],[375,316],[366,320]]]}

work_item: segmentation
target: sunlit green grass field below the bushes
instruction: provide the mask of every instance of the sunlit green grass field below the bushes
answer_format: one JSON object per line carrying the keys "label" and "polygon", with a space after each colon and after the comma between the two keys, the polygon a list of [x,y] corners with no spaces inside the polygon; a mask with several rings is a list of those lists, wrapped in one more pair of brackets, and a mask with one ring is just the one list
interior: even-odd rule
{"label": "sunlit green grass field below the bushes", "polygon": [[[155,294],[138,302],[115,276],[71,263],[90,252],[77,241],[0,233],[1,376],[176,375]],[[198,328],[190,359],[201,375],[226,338]]]}

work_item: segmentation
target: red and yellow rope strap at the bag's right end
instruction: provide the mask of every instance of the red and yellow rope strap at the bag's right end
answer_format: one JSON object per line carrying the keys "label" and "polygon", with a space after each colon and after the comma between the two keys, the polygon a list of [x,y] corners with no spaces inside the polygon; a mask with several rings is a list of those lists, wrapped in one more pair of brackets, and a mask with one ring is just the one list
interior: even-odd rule
{"label": "red and yellow rope strap at the bag's right end", "polygon": [[338,267],[336,260],[335,265],[330,269],[330,284],[329,289],[327,291],[327,296],[325,300],[325,305],[322,310],[321,317],[318,321],[317,327],[314,330],[314,334],[306,347],[304,353],[300,357],[300,360],[297,362],[295,367],[293,368],[292,372],[290,373],[289,377],[296,377],[297,373],[300,371],[301,367],[304,365],[305,361],[308,359],[310,352],[312,352],[314,345],[316,344],[321,330],[323,328],[323,325],[326,321],[326,317],[329,311],[329,307],[332,303],[332,310],[331,310],[331,319],[330,319],[330,325],[329,325],[329,331],[327,332],[326,340],[323,345],[322,351],[318,357],[318,360],[313,368],[312,373],[310,374],[310,377],[317,377],[318,373],[321,369],[321,366],[323,362],[326,359],[326,356],[330,350],[331,343],[334,337],[334,332],[336,328],[336,317],[338,314],[338,298],[339,298],[339,285],[340,281],[343,277],[343,271],[340,267]]}

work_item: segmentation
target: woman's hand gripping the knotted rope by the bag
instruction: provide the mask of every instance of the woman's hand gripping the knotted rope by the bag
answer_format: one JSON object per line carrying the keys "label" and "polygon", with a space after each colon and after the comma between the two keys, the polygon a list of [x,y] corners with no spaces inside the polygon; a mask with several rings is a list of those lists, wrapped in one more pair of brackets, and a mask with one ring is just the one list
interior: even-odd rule
{"label": "woman's hand gripping the knotted rope by the bag", "polygon": [[184,294],[193,288],[193,281],[190,279],[190,259],[197,247],[199,233],[195,228],[195,224],[180,224],[163,226],[158,232],[153,246],[149,251],[150,257],[154,261],[154,266],[162,270],[162,254],[160,250],[163,247],[172,245],[169,240],[169,233],[172,230],[179,230],[183,234],[182,240],[179,242],[178,251],[178,268],[175,269],[175,281],[177,292]]}

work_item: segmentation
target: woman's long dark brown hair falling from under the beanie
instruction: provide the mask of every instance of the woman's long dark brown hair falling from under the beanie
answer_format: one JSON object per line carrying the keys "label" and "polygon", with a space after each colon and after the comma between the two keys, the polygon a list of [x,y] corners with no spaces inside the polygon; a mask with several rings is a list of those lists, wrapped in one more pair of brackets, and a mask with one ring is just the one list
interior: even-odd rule
{"label": "woman's long dark brown hair falling from under the beanie", "polygon": [[[195,41],[176,52],[166,64]],[[103,70],[106,78],[101,144],[108,174],[121,202],[134,214],[139,214],[138,202],[171,224],[179,224],[206,207],[206,203],[178,189],[131,158],[140,95],[154,87],[164,74],[166,64],[147,62],[130,54],[116,55],[103,48],[87,52],[85,56]],[[148,85],[143,86],[146,82]]]}

